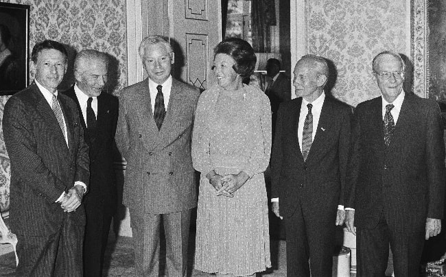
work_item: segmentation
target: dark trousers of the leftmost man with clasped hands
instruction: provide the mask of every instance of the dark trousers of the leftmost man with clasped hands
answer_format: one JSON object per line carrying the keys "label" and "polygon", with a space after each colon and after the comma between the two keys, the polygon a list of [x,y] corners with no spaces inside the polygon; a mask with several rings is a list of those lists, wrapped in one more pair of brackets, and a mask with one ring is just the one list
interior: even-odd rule
{"label": "dark trousers of the leftmost man with clasped hands", "polygon": [[82,277],[84,225],[73,222],[68,213],[60,230],[47,237],[17,235],[19,265],[16,276]]}

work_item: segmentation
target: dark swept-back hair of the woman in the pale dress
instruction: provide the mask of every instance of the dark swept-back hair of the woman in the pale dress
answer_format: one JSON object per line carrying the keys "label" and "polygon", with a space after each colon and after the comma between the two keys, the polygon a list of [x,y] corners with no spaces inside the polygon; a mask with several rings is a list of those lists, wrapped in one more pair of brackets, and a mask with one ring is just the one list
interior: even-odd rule
{"label": "dark swept-back hair of the woman in the pale dress", "polygon": [[214,56],[219,53],[231,56],[235,60],[233,65],[235,73],[243,78],[253,74],[257,57],[253,47],[246,40],[242,40],[242,38],[226,38],[213,49],[213,52]]}

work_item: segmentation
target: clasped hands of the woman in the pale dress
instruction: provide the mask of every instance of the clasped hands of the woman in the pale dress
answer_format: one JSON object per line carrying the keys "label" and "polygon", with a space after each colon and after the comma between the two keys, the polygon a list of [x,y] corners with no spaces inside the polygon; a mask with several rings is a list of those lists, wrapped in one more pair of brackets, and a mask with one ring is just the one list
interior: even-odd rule
{"label": "clasped hands of the woman in the pale dress", "polygon": [[226,197],[234,197],[235,191],[240,189],[248,179],[248,174],[244,171],[240,171],[238,174],[227,174],[224,176],[215,174],[209,179],[209,183],[211,183],[215,191],[217,191],[217,196],[224,195]]}

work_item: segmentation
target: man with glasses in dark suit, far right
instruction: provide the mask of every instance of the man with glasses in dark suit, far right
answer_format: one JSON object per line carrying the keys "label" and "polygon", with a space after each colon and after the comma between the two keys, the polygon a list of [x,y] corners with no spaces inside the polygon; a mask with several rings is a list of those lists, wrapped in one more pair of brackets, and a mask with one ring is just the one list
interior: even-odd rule
{"label": "man with glasses in dark suit, far right", "polygon": [[434,101],[403,91],[404,69],[398,53],[379,53],[373,74],[382,96],[355,110],[346,207],[358,276],[384,276],[389,244],[395,276],[419,276],[424,239],[441,231],[441,113]]}

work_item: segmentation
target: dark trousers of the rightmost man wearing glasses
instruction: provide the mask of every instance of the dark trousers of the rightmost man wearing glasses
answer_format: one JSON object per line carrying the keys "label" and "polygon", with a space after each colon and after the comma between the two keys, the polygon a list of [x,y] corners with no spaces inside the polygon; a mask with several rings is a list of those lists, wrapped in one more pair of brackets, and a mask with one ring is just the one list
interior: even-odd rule
{"label": "dark trousers of the rightmost man wearing glasses", "polygon": [[418,277],[424,232],[396,232],[382,215],[374,229],[356,228],[357,276],[385,276],[389,244],[396,277]]}

